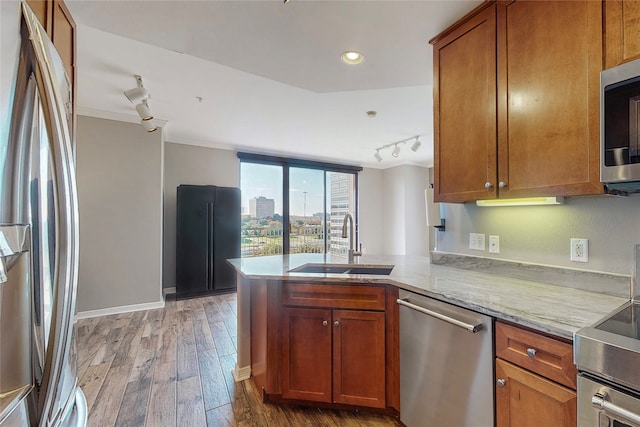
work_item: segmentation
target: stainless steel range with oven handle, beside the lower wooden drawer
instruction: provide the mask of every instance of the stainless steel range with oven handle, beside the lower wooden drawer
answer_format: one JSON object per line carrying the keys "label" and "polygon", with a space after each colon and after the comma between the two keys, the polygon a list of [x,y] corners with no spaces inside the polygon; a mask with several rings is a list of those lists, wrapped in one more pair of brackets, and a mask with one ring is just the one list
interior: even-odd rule
{"label": "stainless steel range with oven handle, beside the lower wooden drawer", "polygon": [[579,427],[640,427],[640,302],[574,339]]}

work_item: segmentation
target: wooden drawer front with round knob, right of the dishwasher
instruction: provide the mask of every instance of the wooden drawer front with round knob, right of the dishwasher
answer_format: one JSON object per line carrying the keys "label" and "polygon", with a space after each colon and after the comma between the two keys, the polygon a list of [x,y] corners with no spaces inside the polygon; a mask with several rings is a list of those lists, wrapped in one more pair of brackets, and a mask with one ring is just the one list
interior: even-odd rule
{"label": "wooden drawer front with round knob, right of the dishwasher", "polygon": [[496,357],[576,389],[571,344],[496,322]]}

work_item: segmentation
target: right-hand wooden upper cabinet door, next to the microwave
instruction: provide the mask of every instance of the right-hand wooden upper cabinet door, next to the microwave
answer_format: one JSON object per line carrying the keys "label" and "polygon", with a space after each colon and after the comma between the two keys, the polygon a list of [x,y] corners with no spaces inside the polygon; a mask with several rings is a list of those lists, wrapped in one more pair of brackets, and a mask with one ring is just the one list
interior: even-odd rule
{"label": "right-hand wooden upper cabinet door, next to the microwave", "polygon": [[498,7],[500,197],[602,193],[602,4]]}

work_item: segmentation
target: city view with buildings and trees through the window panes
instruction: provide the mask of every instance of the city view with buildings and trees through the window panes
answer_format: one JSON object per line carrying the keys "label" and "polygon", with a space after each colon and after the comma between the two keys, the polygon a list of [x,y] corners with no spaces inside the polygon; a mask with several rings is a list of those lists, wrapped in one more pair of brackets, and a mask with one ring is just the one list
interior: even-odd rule
{"label": "city view with buildings and trees through the window panes", "polygon": [[288,217],[283,178],[282,166],[241,164],[242,256],[282,254],[285,226],[289,253],[345,255],[342,222],[347,213],[355,219],[355,174],[290,167]]}

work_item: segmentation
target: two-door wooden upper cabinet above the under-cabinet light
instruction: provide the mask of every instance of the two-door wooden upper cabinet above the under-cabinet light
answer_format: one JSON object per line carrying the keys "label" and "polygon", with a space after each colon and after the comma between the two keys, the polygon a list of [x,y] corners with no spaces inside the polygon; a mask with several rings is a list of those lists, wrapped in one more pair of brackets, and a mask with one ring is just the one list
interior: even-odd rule
{"label": "two-door wooden upper cabinet above the under-cabinet light", "polygon": [[434,199],[600,194],[602,3],[487,2],[434,44]]}

